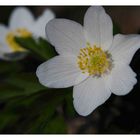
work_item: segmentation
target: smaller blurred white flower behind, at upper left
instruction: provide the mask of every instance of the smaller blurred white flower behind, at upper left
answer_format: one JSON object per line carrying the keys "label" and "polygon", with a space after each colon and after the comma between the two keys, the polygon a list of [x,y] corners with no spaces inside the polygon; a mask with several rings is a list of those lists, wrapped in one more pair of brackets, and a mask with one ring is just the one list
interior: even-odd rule
{"label": "smaller blurred white flower behind, at upper left", "polygon": [[10,16],[9,26],[6,27],[0,24],[0,58],[9,60],[23,57],[25,49],[15,42],[14,37],[32,36],[45,38],[46,23],[54,17],[54,13],[47,9],[35,20],[27,8],[16,8]]}

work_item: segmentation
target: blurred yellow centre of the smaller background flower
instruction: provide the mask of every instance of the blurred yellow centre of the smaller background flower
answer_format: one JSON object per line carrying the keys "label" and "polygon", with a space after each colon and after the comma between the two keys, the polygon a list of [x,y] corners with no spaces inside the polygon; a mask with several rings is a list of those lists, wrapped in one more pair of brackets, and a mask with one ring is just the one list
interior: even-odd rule
{"label": "blurred yellow centre of the smaller background flower", "polygon": [[15,41],[15,37],[30,37],[32,34],[25,28],[20,28],[15,30],[14,32],[9,32],[6,36],[6,42],[8,43],[9,47],[14,51],[26,51],[22,48],[18,43]]}

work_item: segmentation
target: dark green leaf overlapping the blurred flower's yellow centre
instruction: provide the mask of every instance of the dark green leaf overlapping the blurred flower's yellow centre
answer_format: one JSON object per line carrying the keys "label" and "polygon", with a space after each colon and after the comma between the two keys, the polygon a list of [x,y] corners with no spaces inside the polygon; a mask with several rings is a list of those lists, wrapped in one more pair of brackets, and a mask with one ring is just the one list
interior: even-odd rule
{"label": "dark green leaf overlapping the blurred flower's yellow centre", "polygon": [[20,46],[29,50],[33,54],[33,56],[38,56],[42,60],[48,60],[56,55],[54,48],[51,47],[49,43],[42,38],[34,40],[31,37],[28,38],[16,37],[15,41]]}

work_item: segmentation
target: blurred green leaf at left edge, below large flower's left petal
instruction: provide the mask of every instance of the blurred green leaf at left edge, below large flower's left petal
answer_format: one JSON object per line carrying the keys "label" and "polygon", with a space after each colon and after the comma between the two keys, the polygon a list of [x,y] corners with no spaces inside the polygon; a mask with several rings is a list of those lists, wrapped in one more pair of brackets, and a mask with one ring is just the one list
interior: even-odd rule
{"label": "blurred green leaf at left edge, below large flower's left petal", "polygon": [[0,85],[0,99],[7,99],[16,96],[29,96],[47,88],[42,86],[35,74],[20,73],[9,76]]}

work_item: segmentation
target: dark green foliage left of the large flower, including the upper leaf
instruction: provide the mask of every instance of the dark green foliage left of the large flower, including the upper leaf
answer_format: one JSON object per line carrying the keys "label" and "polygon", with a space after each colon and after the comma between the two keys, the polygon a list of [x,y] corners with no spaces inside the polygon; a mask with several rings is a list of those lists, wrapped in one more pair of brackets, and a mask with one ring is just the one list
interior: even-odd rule
{"label": "dark green foliage left of the large flower, including the upper leaf", "polygon": [[54,48],[42,38],[15,40],[28,53],[21,61],[0,62],[0,133],[67,133],[59,109],[65,113],[63,104],[72,95],[72,89],[44,87],[35,74],[42,61],[56,55]]}

